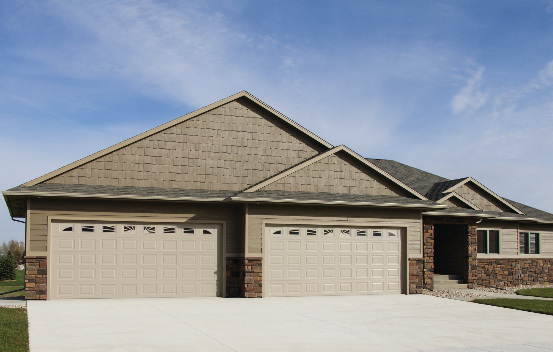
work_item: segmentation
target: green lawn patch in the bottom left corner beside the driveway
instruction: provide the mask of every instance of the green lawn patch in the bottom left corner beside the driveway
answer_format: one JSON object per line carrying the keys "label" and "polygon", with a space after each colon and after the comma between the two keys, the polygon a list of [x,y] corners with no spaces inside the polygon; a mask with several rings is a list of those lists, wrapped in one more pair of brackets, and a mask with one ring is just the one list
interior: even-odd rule
{"label": "green lawn patch in the bottom left corner beside the driveway", "polygon": [[27,309],[0,308],[0,351],[29,351]]}

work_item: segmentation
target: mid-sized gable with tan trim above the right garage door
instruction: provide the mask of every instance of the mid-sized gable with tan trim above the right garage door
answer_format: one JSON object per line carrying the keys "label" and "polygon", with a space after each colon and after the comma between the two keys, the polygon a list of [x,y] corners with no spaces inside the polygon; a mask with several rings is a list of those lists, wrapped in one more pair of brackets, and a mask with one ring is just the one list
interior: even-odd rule
{"label": "mid-sized gable with tan trim above the right garage door", "polygon": [[284,170],[245,192],[304,191],[426,199],[346,146],[338,146]]}

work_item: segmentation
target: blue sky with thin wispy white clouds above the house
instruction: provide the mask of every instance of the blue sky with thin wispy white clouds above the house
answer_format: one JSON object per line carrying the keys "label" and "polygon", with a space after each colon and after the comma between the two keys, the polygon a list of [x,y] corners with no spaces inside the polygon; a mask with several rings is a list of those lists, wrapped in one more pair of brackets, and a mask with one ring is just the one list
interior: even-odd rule
{"label": "blue sky with thin wispy white clouds above the house", "polygon": [[333,145],[553,213],[552,34],[538,0],[2,2],[0,188],[246,90]]}

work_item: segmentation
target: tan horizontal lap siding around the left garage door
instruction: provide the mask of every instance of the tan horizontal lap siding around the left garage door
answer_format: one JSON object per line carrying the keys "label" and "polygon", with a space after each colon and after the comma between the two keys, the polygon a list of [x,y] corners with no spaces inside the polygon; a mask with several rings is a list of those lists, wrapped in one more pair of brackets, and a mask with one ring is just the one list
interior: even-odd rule
{"label": "tan horizontal lap siding around the left garage door", "polygon": [[29,250],[46,252],[48,216],[100,216],[102,219],[178,218],[189,220],[226,221],[228,253],[243,252],[243,235],[239,230],[238,206],[205,203],[169,203],[152,201],[48,200],[32,199]]}

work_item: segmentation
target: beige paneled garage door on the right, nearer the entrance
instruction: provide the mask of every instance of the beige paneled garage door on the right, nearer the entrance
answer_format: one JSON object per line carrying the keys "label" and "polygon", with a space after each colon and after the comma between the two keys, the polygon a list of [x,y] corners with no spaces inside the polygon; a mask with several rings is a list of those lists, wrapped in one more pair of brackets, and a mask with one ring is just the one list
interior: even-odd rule
{"label": "beige paneled garage door on the right, nearer the entrance", "polygon": [[267,226],[265,296],[402,293],[400,229]]}

